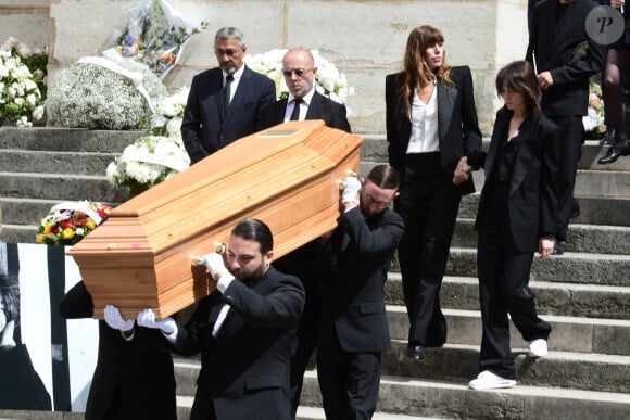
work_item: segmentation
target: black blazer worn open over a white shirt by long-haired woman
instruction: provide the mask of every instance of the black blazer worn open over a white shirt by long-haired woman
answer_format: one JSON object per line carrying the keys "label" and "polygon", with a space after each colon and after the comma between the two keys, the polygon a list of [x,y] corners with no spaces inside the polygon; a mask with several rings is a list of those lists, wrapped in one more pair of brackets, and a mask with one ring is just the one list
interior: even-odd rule
{"label": "black blazer worn open over a white shirt by long-haired woman", "polygon": [[[453,67],[451,78],[453,80],[451,86],[442,82],[437,85],[440,158],[449,183],[453,179],[459,158],[470,151],[481,150],[481,131],[475,109],[470,68],[468,66]],[[385,88],[389,164],[399,171],[401,179],[412,135],[412,122],[407,116],[407,109],[398,97],[398,91],[403,84],[403,73],[391,74],[386,78]],[[412,103],[411,97],[410,103]],[[472,179],[457,188],[463,194],[475,191]]]}

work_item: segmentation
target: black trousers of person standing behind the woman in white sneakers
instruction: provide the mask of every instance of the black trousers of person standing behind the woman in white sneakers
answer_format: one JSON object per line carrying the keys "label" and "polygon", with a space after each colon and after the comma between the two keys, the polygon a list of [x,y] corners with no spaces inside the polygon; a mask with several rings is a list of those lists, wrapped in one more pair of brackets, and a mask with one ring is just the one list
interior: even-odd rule
{"label": "black trousers of person standing behind the woman in white sneakers", "polygon": [[576,187],[576,175],[582,142],[584,140],[584,126],[582,117],[569,115],[563,117],[549,117],[560,127],[560,149],[558,162],[558,221],[556,239],[566,241],[569,230],[569,216],[571,214],[571,201]]}

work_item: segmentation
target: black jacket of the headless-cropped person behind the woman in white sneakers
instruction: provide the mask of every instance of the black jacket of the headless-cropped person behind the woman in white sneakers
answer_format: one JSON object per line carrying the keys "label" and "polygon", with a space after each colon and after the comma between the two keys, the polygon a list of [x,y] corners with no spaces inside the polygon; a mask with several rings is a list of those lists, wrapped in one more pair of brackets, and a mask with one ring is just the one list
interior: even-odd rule
{"label": "black jacket of the headless-cropped person behind the woman in white sneakers", "polygon": [[[557,0],[539,0],[534,5],[532,28],[526,60],[536,53],[538,73],[551,72],[553,85],[543,90],[541,106],[547,116],[585,115],[589,105],[589,78],[597,74],[604,62],[604,51],[585,30],[587,15],[597,4],[592,0],[576,0],[566,5],[562,22],[556,23]],[[589,42],[589,53],[575,64],[568,64],[574,49]]]}

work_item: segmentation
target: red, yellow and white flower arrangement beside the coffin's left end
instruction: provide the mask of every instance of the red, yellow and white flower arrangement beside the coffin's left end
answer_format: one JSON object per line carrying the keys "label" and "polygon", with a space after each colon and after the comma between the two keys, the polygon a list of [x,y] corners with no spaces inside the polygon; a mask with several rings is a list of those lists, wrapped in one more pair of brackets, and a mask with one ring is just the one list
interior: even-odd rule
{"label": "red, yellow and white flower arrangement beside the coffin's left end", "polygon": [[89,201],[63,202],[50,209],[37,228],[37,243],[74,245],[96,229],[112,207]]}

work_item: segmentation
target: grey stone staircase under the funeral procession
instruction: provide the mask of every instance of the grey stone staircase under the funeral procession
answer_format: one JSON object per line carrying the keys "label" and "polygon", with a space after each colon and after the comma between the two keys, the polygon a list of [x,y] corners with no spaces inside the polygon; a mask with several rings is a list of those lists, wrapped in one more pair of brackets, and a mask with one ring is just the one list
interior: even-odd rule
{"label": "grey stone staircase under the funeral procession", "polygon": [[[38,219],[59,201],[125,201],[104,171],[140,135],[0,128],[0,241],[35,242]],[[362,174],[387,162],[386,153],[382,137],[366,138]],[[553,327],[549,356],[528,358],[527,343],[513,330],[519,385],[467,387],[477,374],[481,341],[472,230],[479,195],[472,194],[461,206],[441,294],[448,344],[428,349],[424,364],[405,355],[408,322],[395,262],[390,271],[386,296],[393,345],[382,357],[375,419],[630,418],[630,158],[602,167],[595,164],[601,153],[596,142],[583,148],[576,187],[581,215],[571,220],[565,254],[536,259],[532,267],[539,311]],[[476,174],[479,189],[482,181]],[[185,419],[199,360],[175,357],[175,367]],[[300,419],[324,419],[315,369],[306,372],[301,403]]]}

